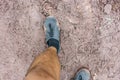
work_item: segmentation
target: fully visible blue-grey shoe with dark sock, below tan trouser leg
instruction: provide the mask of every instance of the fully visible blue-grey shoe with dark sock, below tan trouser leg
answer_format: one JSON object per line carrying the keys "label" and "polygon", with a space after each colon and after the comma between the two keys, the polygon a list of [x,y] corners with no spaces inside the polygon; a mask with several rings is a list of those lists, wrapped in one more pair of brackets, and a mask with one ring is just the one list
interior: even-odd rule
{"label": "fully visible blue-grey shoe with dark sock, below tan trouser leg", "polygon": [[60,28],[58,27],[57,20],[49,16],[46,18],[44,22],[44,30],[45,30],[45,36],[46,36],[46,43],[48,46],[53,46],[57,49],[57,51],[60,51]]}

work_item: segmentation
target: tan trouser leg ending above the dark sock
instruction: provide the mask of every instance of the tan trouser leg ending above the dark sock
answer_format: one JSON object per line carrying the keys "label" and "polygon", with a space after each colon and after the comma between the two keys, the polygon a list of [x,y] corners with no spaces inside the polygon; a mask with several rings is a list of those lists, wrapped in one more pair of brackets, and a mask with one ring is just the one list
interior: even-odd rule
{"label": "tan trouser leg ending above the dark sock", "polygon": [[56,48],[50,47],[35,58],[25,80],[60,80],[60,63]]}

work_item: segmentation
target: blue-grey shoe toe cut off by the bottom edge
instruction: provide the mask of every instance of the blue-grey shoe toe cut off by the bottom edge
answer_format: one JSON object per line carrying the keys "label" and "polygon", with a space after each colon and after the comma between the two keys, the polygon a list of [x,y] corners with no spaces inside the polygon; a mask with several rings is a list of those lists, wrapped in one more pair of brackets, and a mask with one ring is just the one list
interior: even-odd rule
{"label": "blue-grey shoe toe cut off by the bottom edge", "polygon": [[80,69],[75,77],[74,80],[90,80],[90,72],[87,69]]}

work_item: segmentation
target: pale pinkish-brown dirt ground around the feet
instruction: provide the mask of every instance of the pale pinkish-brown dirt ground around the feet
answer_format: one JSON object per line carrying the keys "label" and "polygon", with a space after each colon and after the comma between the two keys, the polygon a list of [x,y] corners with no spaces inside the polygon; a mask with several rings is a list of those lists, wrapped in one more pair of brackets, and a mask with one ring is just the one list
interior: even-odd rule
{"label": "pale pinkish-brown dirt ground around the feet", "polygon": [[61,80],[88,67],[93,80],[120,80],[120,0],[0,0],[0,80],[23,80],[46,49],[43,21],[61,28]]}

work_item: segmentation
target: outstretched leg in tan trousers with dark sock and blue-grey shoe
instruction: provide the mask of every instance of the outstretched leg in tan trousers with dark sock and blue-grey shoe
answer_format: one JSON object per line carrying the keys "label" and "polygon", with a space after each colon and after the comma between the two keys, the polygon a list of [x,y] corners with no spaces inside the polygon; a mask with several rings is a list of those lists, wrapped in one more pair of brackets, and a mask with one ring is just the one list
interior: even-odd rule
{"label": "outstretched leg in tan trousers with dark sock and blue-grey shoe", "polygon": [[48,49],[39,54],[31,64],[25,80],[59,80],[60,63],[59,52],[59,28],[54,17],[45,20],[45,35]]}

